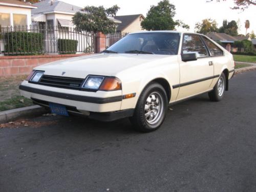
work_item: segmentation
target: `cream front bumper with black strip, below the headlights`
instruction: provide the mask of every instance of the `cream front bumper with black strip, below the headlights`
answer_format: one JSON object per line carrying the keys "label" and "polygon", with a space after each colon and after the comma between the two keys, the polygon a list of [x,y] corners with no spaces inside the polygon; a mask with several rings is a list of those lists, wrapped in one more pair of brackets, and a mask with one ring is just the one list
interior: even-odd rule
{"label": "cream front bumper with black strip, below the headlights", "polygon": [[28,81],[24,81],[19,89],[20,94],[27,98],[72,106],[82,114],[120,111],[122,103],[121,90],[86,92],[42,86]]}

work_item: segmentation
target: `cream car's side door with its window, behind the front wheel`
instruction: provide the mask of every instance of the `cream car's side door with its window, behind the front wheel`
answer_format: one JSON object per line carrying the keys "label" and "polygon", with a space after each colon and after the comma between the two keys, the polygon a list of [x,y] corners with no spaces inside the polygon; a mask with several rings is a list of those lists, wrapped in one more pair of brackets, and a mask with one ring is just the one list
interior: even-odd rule
{"label": "cream car's side door with its window, behind the front wheel", "polygon": [[179,55],[180,84],[177,100],[203,93],[210,89],[214,76],[214,65],[200,35],[183,36],[181,54],[196,53],[197,60],[182,61]]}

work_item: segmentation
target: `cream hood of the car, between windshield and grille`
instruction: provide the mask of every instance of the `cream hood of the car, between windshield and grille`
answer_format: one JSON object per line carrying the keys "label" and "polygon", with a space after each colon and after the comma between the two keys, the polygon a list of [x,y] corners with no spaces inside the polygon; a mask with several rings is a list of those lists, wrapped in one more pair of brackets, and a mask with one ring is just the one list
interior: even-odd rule
{"label": "cream hood of the car, between windshield and grille", "polygon": [[[126,69],[155,63],[156,60],[166,57],[171,56],[101,53],[54,61],[46,65],[38,66],[35,70],[45,71],[46,75],[63,77],[85,78],[87,75],[116,76],[116,74]],[[148,65],[148,67],[150,67],[150,65]],[[65,72],[65,74],[62,75],[63,72]]]}

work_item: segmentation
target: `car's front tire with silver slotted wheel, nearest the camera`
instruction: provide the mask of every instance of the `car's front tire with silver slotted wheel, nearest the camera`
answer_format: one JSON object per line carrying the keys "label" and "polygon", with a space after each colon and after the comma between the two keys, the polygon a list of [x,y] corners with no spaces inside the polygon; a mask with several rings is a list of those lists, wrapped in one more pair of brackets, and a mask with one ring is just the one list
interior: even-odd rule
{"label": "car's front tire with silver slotted wheel, nearest the camera", "polygon": [[130,118],[135,129],[140,132],[157,130],[164,121],[167,111],[167,94],[159,83],[149,84],[141,93]]}

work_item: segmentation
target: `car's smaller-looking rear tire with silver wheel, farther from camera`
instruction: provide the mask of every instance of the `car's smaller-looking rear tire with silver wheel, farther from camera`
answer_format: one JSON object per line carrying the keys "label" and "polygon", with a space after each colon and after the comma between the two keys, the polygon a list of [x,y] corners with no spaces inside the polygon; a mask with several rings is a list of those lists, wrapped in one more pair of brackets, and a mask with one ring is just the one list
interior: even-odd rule
{"label": "car's smaller-looking rear tire with silver wheel, farther from camera", "polygon": [[224,73],[221,74],[214,89],[208,93],[211,101],[220,101],[225,94],[226,89],[226,76]]}

